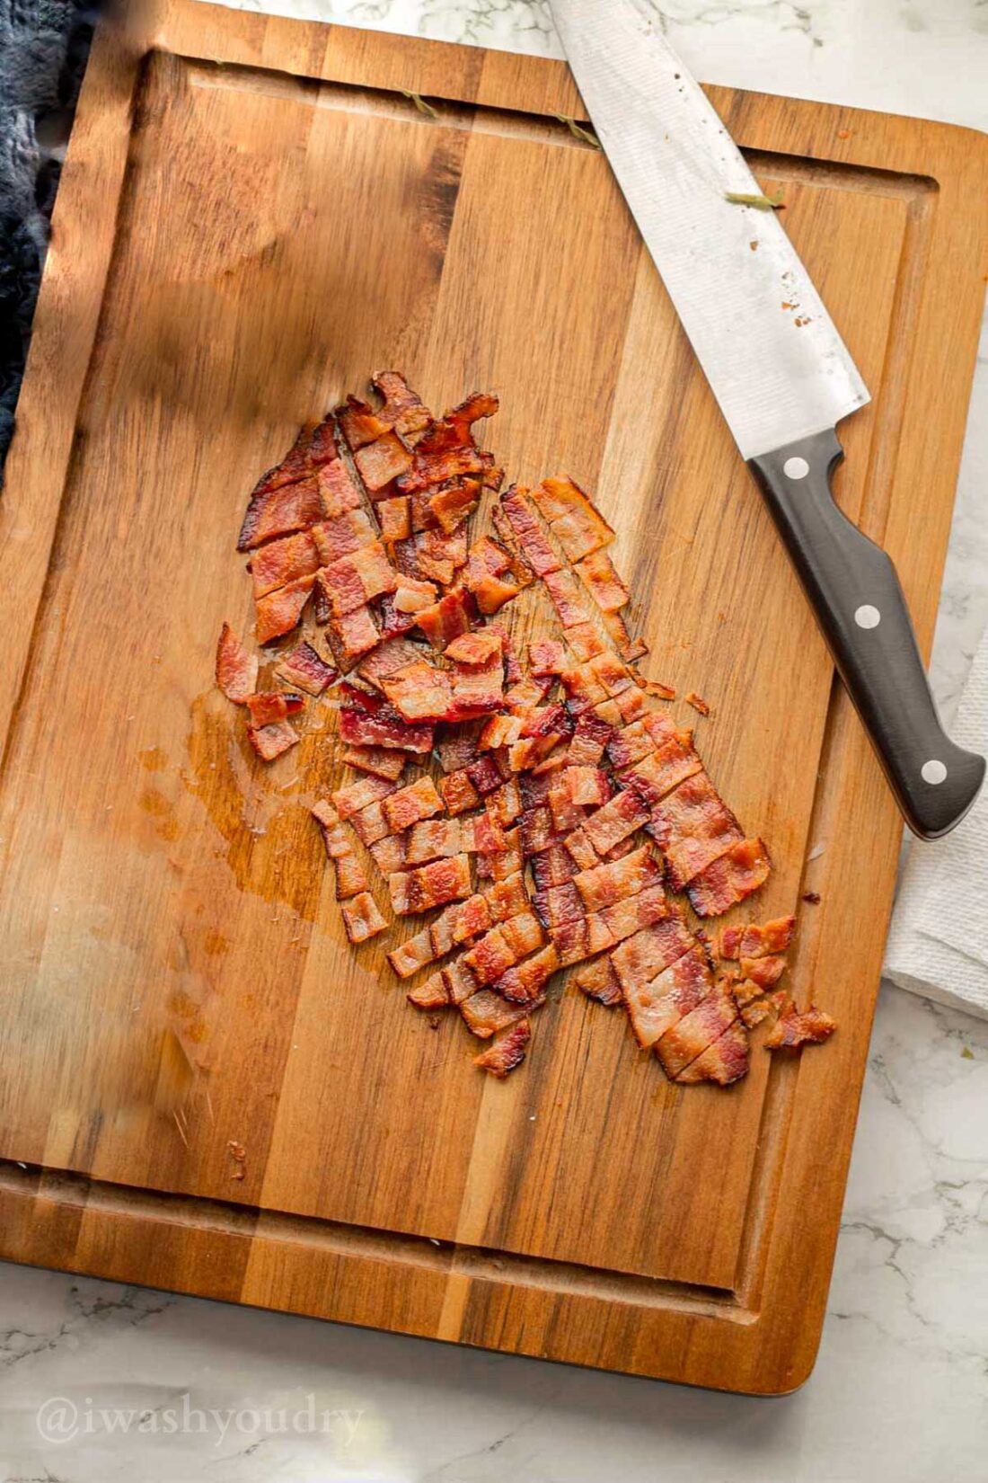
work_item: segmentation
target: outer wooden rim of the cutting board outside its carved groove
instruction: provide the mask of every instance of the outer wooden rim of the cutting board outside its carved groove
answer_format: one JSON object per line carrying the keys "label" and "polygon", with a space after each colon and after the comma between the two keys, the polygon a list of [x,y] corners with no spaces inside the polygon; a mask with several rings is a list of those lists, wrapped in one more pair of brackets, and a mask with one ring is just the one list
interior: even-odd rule
{"label": "outer wooden rim of the cutting board outside its carved groove", "polygon": [[[378,71],[367,76],[360,68],[373,47],[378,49]],[[247,15],[197,0],[157,0],[151,6],[129,6],[123,10],[123,24],[101,24],[56,203],[53,246],[18,408],[7,488],[0,501],[0,549],[18,562],[15,590],[7,593],[7,601],[16,599],[16,607],[10,610],[16,612],[16,624],[9,627],[13,641],[0,661],[4,664],[0,672],[4,678],[0,685],[0,725],[4,736],[9,736],[12,709],[27,672],[36,615],[44,590],[61,494],[73,452],[76,414],[113,251],[117,199],[129,147],[129,111],[141,61],[150,49],[172,50],[201,61],[267,67],[296,77],[339,82],[363,77],[367,86],[407,86],[425,95],[449,93],[459,101],[521,113],[572,111],[579,116],[581,107],[564,64],[539,58]],[[450,67],[453,58],[458,62]],[[914,602],[921,648],[929,653],[979,323],[976,313],[961,314],[961,310],[972,307],[978,292],[984,297],[976,252],[984,240],[988,209],[984,190],[988,141],[973,131],[889,119],[861,110],[794,99],[785,99],[781,107],[779,99],[729,89],[711,89],[711,96],[742,141],[754,150],[912,174],[938,182],[942,209],[936,212],[930,231],[927,274],[914,326],[917,337],[929,332],[936,354],[924,375],[915,375],[902,389],[904,433],[898,448],[889,455],[893,467],[887,469],[887,478],[883,479],[884,486],[890,488],[890,480],[899,470],[905,470],[907,486],[921,486],[920,480],[926,480],[927,486],[939,491],[933,518],[924,526],[923,550],[918,552],[917,543],[909,540],[907,495],[890,500],[880,513],[869,509],[869,501],[865,506],[867,515],[877,515],[877,523],[884,528],[886,544],[899,564],[904,584]],[[758,128],[752,125],[752,129],[745,131],[758,104],[770,107],[764,119],[758,119]],[[898,159],[890,160],[889,148],[893,145]],[[99,191],[93,209],[90,185],[96,175]],[[83,240],[87,251],[76,252],[74,248]],[[967,265],[967,273],[958,273],[958,261]],[[957,320],[964,320],[964,337],[948,337],[942,325],[939,335],[935,334],[941,314],[941,304],[935,298],[938,264],[942,271],[952,268],[951,303]],[[70,303],[71,314],[65,311]],[[947,408],[945,430],[941,430],[938,440],[923,436],[929,423],[930,386],[936,389],[941,406]],[[881,534],[874,526],[871,532]],[[784,1100],[791,1109],[791,1118],[787,1121],[787,1136],[773,1173],[778,1204],[772,1209],[764,1240],[754,1241],[757,1272],[752,1281],[758,1293],[758,1309],[751,1321],[726,1324],[721,1314],[714,1317],[658,1308],[643,1312],[637,1308],[634,1335],[622,1329],[616,1348],[601,1338],[597,1354],[588,1355],[587,1336],[579,1330],[585,1329],[591,1309],[597,1311],[601,1299],[575,1295],[564,1298],[561,1307],[567,1320],[563,1321],[563,1314],[557,1314],[551,1338],[539,1342],[538,1323],[529,1320],[526,1324],[524,1293],[518,1302],[518,1287],[481,1281],[470,1272],[447,1272],[438,1278],[443,1287],[464,1287],[462,1301],[450,1309],[456,1314],[452,1327],[441,1321],[441,1311],[434,1324],[412,1324],[397,1314],[394,1304],[385,1302],[378,1309],[360,1274],[364,1264],[375,1264],[369,1256],[347,1259],[353,1266],[354,1290],[366,1296],[360,1315],[339,1308],[321,1311],[318,1304],[301,1301],[293,1295],[293,1281],[299,1280],[299,1274],[289,1275],[284,1268],[281,1277],[267,1287],[261,1280],[244,1280],[234,1292],[221,1277],[203,1278],[201,1271],[191,1280],[191,1268],[179,1252],[172,1266],[164,1264],[154,1272],[154,1281],[179,1292],[714,1388],[752,1394],[794,1390],[812,1369],[822,1327],[899,835],[895,810],[886,796],[877,764],[840,691],[834,693],[828,713],[825,755],[827,786],[818,793],[816,807],[835,826],[849,814],[855,816],[872,838],[874,853],[867,860],[867,868],[858,866],[841,878],[831,872],[827,902],[816,916],[816,940],[807,946],[807,955],[825,960],[828,951],[840,948],[847,924],[855,921],[861,893],[867,891],[869,900],[877,903],[877,915],[868,924],[874,936],[862,961],[862,1019],[844,1031],[841,1040],[846,1051],[831,1057],[830,1065],[827,1060],[810,1059],[806,1065],[779,1066],[778,1083],[785,1091]],[[840,1040],[834,1046],[840,1046]],[[835,1103],[831,1083],[838,1068],[846,1086],[844,1096]],[[818,1118],[825,1108],[835,1115],[828,1146],[821,1149]],[[40,1185],[47,1178],[56,1176],[39,1176]],[[797,1218],[809,1197],[819,1210],[812,1244],[806,1241]],[[34,1215],[27,1223],[21,1223],[19,1218],[28,1201]],[[46,1249],[37,1240],[39,1206],[47,1206],[58,1219],[70,1218],[79,1229],[89,1222],[93,1240],[86,1244],[76,1238],[71,1244],[62,1241],[58,1249]],[[89,1210],[77,1201],[59,1203],[49,1200],[40,1188],[37,1195],[28,1197],[22,1191],[15,1194],[6,1183],[0,1185],[0,1207],[6,1210],[0,1221],[3,1256],[124,1281],[151,1280],[147,1266],[133,1265],[138,1256],[130,1240],[135,1225],[147,1225],[147,1216],[121,1212],[110,1215],[98,1212],[95,1206]],[[262,1226],[264,1216],[258,1219],[247,1243],[258,1252],[268,1241]],[[117,1249],[117,1235],[123,1237],[127,1250]],[[207,1240],[240,1244],[244,1237],[241,1232],[222,1237],[207,1232]],[[296,1255],[296,1261],[304,1259]],[[794,1269],[801,1275],[801,1295],[795,1305],[791,1293]],[[428,1281],[434,1283],[435,1275],[430,1272]],[[478,1286],[486,1289],[480,1296],[475,1292]],[[514,1312],[513,1302],[517,1309]],[[444,1305],[440,1307],[444,1311]],[[604,1302],[604,1307],[613,1304]],[[754,1314],[754,1308],[742,1311]],[[604,1320],[606,1314],[601,1312],[601,1327]],[[579,1352],[573,1352],[572,1339],[582,1345]]]}

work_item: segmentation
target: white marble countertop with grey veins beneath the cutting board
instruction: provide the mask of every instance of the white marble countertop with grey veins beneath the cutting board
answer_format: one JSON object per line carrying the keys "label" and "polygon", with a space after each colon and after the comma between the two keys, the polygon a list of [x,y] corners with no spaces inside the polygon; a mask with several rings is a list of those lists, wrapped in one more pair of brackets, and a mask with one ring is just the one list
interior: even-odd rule
{"label": "white marble countertop with grey veins beneath the cutting board", "polygon": [[[539,0],[243,0],[560,55]],[[985,0],[670,0],[710,82],[988,128]],[[988,341],[933,658],[988,617]],[[0,1265],[3,1483],[988,1477],[988,1022],[884,986],[816,1370],[750,1400]],[[102,1415],[105,1413],[105,1415]]]}

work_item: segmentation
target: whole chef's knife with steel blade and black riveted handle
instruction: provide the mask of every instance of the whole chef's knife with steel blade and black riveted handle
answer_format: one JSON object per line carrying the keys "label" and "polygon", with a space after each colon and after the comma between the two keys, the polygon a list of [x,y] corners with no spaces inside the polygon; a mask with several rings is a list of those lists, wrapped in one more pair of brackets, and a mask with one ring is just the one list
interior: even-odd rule
{"label": "whole chef's knife with steel blade and black riveted handle", "polygon": [[944,733],[895,567],[831,495],[837,423],[868,389],[778,214],[744,203],[760,187],[655,6],[550,4],[618,184],[899,807],[935,839],[973,804],[985,761]]}

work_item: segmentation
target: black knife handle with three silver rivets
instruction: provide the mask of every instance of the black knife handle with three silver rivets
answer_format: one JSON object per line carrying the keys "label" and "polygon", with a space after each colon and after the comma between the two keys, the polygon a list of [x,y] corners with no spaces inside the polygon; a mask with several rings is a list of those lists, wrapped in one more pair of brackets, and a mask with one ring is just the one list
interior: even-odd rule
{"label": "black knife handle with three silver rivets", "polygon": [[978,796],[985,759],[944,731],[890,558],[834,503],[837,433],[751,458],[834,663],[909,829],[948,833]]}

